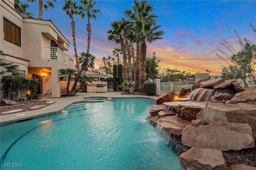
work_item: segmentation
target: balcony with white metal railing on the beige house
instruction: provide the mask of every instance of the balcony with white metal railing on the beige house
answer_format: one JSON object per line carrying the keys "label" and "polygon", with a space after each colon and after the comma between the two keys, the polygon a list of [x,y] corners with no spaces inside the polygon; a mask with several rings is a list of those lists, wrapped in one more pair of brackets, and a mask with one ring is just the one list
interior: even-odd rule
{"label": "balcony with white metal railing on the beige house", "polygon": [[60,60],[74,67],[74,60],[57,47],[42,47],[42,58],[46,60]]}

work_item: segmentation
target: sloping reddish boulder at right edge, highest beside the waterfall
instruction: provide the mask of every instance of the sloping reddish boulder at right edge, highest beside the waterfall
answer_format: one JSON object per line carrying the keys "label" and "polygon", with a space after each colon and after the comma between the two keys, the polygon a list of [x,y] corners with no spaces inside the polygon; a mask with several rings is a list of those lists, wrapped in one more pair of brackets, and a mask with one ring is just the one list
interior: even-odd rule
{"label": "sloping reddish boulder at right edge, highest beside the waterfall", "polygon": [[245,91],[235,94],[230,103],[256,104],[256,86],[250,86]]}

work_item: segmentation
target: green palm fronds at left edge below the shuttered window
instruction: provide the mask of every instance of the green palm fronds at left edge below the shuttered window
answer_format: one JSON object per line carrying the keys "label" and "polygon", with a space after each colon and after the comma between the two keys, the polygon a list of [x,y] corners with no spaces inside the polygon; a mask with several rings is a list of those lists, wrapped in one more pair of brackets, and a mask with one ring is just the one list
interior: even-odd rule
{"label": "green palm fronds at left edge below the shuttered window", "polygon": [[[1,52],[2,53],[2,52]],[[20,76],[20,72],[18,71],[19,65],[14,64],[12,62],[5,62],[2,58],[0,58],[0,76],[4,76],[5,74],[11,74],[13,76]]]}

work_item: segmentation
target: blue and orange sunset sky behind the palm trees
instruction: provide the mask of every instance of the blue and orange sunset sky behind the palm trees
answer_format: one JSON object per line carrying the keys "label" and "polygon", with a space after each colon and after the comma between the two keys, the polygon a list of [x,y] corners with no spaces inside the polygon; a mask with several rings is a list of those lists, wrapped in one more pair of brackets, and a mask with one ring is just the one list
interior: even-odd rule
{"label": "blue and orange sunset sky behind the palm trees", "polygon": [[[131,9],[133,0],[96,0],[95,9],[100,10],[97,20],[91,20],[92,38],[90,53],[96,56],[95,68],[101,64],[103,56],[113,56],[114,48],[120,47],[107,40],[106,32],[111,29],[110,22],[121,20],[124,10]],[[256,35],[250,27],[250,22],[256,26],[256,1],[172,1],[150,0],[154,4],[154,14],[159,19],[157,24],[162,25],[159,30],[164,31],[162,40],[147,44],[147,57],[161,60],[159,66],[164,68],[177,67],[178,70],[191,73],[206,73],[220,75],[221,65],[225,64],[218,58],[218,50],[225,50],[220,44],[222,39],[227,40],[238,51],[239,44],[234,34],[236,29],[241,37],[248,38],[254,44]],[[26,3],[26,2],[24,2]],[[71,20],[62,11],[64,2],[58,0],[55,9],[43,11],[43,19],[52,20],[54,25],[70,42],[68,56],[74,56],[74,46],[71,33]],[[38,4],[29,4],[28,12],[38,18]],[[82,21],[75,17],[76,46],[78,52],[87,48],[87,18]]]}

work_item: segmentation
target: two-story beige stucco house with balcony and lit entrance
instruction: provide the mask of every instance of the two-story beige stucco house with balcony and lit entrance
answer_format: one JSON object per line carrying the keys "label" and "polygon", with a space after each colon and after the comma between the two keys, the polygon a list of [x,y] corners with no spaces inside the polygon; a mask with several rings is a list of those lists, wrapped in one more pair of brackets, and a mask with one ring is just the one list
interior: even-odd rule
{"label": "two-story beige stucco house with balcony and lit entrance", "polygon": [[73,68],[67,56],[70,42],[51,20],[24,18],[14,10],[14,0],[0,1],[0,57],[19,65],[28,78],[38,78],[38,94],[60,97],[58,69]]}

